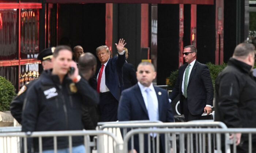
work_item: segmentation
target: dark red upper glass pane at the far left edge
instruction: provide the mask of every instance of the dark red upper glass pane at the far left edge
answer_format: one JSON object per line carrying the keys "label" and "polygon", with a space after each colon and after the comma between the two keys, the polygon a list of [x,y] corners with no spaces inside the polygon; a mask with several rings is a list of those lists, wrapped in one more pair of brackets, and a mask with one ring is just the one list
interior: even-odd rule
{"label": "dark red upper glass pane at the far left edge", "polygon": [[0,9],[0,60],[19,58],[18,9]]}

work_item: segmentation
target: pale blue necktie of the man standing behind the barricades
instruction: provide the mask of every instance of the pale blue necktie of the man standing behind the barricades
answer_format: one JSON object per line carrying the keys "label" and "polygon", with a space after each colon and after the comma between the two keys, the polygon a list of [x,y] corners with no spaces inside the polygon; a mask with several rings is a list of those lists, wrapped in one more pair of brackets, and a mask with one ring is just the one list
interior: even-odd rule
{"label": "pale blue necktie of the man standing behind the barricades", "polygon": [[[155,110],[155,107],[154,107],[154,103],[153,103],[153,99],[150,95],[150,89],[147,88],[146,90],[146,93],[147,93],[147,112],[148,112],[148,118],[150,121],[157,121],[158,118],[157,118],[157,113],[158,111]],[[154,129],[154,127],[153,127]],[[155,137],[157,136],[156,133],[150,133],[151,136]]]}

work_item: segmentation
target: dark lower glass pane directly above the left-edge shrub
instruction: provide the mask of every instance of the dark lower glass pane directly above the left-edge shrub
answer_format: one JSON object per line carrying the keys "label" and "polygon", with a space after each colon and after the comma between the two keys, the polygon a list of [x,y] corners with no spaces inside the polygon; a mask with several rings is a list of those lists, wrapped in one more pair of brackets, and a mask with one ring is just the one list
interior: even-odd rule
{"label": "dark lower glass pane directly above the left-edge shrub", "polygon": [[19,67],[18,66],[1,66],[0,75],[11,81],[16,91],[18,91],[19,83]]}

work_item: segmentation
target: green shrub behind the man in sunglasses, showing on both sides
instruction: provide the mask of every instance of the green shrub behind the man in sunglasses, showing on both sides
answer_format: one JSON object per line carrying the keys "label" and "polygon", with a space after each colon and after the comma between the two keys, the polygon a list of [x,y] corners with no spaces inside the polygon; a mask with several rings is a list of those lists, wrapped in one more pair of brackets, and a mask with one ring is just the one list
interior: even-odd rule
{"label": "green shrub behind the man in sunglasses, showing on both sides", "polygon": [[[215,65],[212,63],[206,63],[206,65],[209,68],[210,71],[210,75],[211,75],[211,80],[212,80],[212,85],[214,87],[214,91],[215,91],[215,80],[218,76],[218,74],[227,66],[226,63],[223,63],[222,65]],[[178,78],[178,70],[176,71],[172,71],[171,75],[169,76],[169,81],[168,81],[168,90],[173,90],[175,83],[176,83],[176,79]]]}

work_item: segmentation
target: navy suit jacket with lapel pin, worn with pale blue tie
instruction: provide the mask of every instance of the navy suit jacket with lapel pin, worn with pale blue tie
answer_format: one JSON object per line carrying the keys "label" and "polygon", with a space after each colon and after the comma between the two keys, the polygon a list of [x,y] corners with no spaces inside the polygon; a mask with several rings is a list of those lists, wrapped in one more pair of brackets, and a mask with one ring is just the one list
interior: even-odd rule
{"label": "navy suit jacket with lapel pin, worn with pale blue tie", "polygon": [[[167,91],[154,87],[158,99],[159,121],[173,122],[173,111],[168,100]],[[161,94],[160,94],[161,93]],[[122,92],[117,118],[119,121],[149,120],[147,108],[138,84]],[[161,136],[162,147],[164,148],[164,137]],[[134,137],[134,148],[139,151],[138,136]],[[145,152],[147,152],[147,137],[144,138]],[[131,145],[129,145],[130,147]]]}

